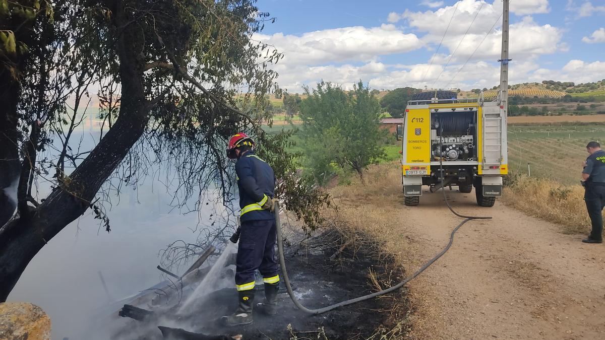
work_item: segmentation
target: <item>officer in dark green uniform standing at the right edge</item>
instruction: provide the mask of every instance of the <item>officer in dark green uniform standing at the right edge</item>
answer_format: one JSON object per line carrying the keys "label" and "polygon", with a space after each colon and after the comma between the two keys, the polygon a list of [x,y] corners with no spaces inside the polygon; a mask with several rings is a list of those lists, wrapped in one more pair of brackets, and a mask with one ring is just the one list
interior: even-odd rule
{"label": "officer in dark green uniform standing at the right edge", "polygon": [[582,178],[584,201],[586,209],[592,222],[592,232],[588,238],[584,238],[585,243],[603,243],[603,216],[601,211],[605,207],[605,151],[601,150],[601,145],[597,142],[589,142],[586,145],[586,151],[590,154],[586,159]]}

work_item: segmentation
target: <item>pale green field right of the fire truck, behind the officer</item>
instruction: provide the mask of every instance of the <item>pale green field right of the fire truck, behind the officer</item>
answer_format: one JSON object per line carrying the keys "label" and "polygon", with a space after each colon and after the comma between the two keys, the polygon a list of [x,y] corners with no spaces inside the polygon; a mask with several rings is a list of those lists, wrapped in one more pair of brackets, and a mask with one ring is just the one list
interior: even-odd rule
{"label": "pale green field right of the fire truck, behind the officer", "polygon": [[532,177],[578,184],[590,140],[603,143],[605,126],[509,126],[509,169],[511,174],[528,174],[530,163]]}

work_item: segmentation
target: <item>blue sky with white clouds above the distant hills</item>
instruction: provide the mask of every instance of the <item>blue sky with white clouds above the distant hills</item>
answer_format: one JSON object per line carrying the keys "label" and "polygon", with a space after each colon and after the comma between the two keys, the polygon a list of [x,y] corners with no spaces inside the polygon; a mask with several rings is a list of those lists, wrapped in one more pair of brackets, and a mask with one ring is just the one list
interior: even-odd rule
{"label": "blue sky with white clouds above the distant hills", "polygon": [[[280,85],[292,92],[321,79],[345,88],[359,79],[385,89],[497,84],[501,0],[259,0],[257,5],[276,18],[258,39],[285,54],[273,68]],[[512,83],[605,78],[605,1],[512,0],[511,58]]]}

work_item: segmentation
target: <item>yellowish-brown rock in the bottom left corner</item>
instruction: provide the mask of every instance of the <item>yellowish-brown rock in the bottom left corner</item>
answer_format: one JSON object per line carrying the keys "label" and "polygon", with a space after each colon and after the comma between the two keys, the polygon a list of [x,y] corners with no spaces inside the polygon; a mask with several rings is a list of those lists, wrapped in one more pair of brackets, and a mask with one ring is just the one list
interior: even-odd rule
{"label": "yellowish-brown rock in the bottom left corner", "polygon": [[50,340],[50,318],[34,304],[0,303],[0,339]]}

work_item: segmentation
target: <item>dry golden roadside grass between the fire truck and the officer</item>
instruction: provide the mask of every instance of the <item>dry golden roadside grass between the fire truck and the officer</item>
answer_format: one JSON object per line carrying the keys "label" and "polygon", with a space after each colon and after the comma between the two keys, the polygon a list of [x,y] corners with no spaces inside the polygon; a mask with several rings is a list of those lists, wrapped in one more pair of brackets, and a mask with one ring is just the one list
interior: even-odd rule
{"label": "dry golden roadside grass between the fire truck and the officer", "polygon": [[505,188],[504,200],[530,215],[560,224],[567,234],[590,231],[584,188],[580,185],[522,176]]}

